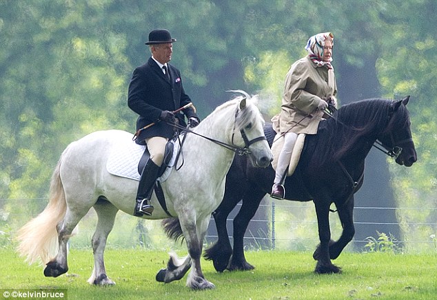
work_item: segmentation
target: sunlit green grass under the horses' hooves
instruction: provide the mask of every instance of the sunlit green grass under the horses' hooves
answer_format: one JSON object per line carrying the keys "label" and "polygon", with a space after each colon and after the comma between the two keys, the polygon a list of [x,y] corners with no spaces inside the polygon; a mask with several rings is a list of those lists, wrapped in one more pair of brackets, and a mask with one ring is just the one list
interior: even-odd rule
{"label": "sunlit green grass under the horses' hooves", "polygon": [[186,275],[168,284],[155,281],[168,259],[163,251],[106,250],[106,270],[116,286],[98,287],[86,282],[92,250],[71,250],[68,276],[46,278],[41,266],[0,249],[0,289],[66,289],[68,299],[436,299],[435,253],[346,252],[334,261],[343,272],[324,275],[314,274],[309,252],[250,251],[246,257],[255,270],[217,273],[202,261],[216,288],[193,291],[185,286]]}

